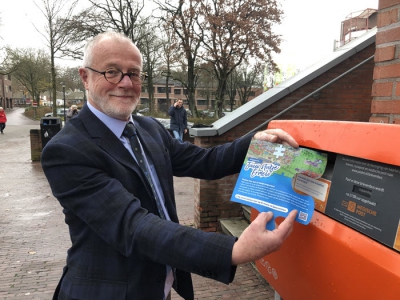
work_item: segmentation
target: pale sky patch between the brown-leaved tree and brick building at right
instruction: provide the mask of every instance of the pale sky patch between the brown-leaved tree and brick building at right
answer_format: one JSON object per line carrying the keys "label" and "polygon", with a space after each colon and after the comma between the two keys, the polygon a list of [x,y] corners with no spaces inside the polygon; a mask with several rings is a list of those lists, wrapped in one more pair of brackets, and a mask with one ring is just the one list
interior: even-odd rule
{"label": "pale sky patch between the brown-leaved tree and brick building at right", "polygon": [[[284,19],[277,32],[282,35],[278,64],[294,64],[304,69],[333,52],[340,39],[341,22],[347,16],[367,9],[378,9],[378,0],[284,0]],[[357,16],[358,14],[353,14]]]}

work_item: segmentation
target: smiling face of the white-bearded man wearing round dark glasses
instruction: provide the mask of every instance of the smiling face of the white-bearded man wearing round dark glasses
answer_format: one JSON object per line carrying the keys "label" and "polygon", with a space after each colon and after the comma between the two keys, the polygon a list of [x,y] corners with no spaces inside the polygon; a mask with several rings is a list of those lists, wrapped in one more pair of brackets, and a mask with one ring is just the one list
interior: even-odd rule
{"label": "smiling face of the white-bearded man wearing round dark glasses", "polygon": [[[123,73],[134,70],[141,71],[141,56],[139,50],[128,41],[105,39],[93,49],[93,61],[90,66],[104,72],[108,69],[118,69]],[[128,120],[136,108],[141,91],[141,84],[133,84],[129,76],[124,76],[121,82],[108,82],[102,74],[87,68],[79,69],[85,89],[88,91],[88,101],[106,115]]]}

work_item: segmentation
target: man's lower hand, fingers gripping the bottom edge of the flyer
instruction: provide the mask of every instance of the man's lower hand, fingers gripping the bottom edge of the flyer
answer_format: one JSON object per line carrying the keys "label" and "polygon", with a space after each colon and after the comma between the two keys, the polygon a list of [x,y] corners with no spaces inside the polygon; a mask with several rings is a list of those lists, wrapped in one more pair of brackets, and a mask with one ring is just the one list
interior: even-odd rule
{"label": "man's lower hand, fingers gripping the bottom edge of the flyer", "polygon": [[296,210],[291,211],[276,229],[269,231],[266,226],[273,214],[260,213],[233,245],[232,265],[249,263],[278,250],[292,232],[296,215]]}

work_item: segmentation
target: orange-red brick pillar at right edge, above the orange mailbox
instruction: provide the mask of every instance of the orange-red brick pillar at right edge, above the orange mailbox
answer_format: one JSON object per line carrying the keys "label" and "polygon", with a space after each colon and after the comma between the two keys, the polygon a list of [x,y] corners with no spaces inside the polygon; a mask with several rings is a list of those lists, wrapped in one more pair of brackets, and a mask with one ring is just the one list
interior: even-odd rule
{"label": "orange-red brick pillar at right edge, above the orange mailbox", "polygon": [[370,122],[400,124],[400,0],[380,0]]}

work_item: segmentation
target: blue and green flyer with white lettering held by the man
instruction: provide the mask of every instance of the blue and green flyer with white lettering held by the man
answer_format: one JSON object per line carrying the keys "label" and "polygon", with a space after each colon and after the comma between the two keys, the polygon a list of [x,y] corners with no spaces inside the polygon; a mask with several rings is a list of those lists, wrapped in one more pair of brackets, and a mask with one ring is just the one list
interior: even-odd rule
{"label": "blue and green flyer with white lettering held by the man", "polygon": [[[296,221],[307,225],[314,212],[314,198],[321,199],[326,187],[318,179],[325,171],[327,155],[253,139],[231,200],[259,212],[272,211],[274,218],[298,211]],[[275,221],[267,224],[275,228]]]}

